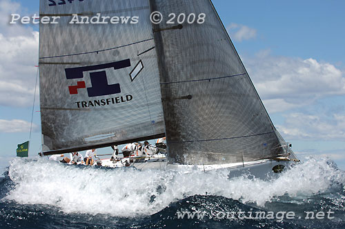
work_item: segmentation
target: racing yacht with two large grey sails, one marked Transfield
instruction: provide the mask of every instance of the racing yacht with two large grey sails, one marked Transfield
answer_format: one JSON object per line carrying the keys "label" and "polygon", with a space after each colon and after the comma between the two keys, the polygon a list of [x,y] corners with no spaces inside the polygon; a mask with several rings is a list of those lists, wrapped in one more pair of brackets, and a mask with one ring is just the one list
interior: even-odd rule
{"label": "racing yacht with two large grey sails, one marked Transfield", "polygon": [[43,155],[166,137],[164,168],[297,161],[210,0],[41,0],[40,17],[59,17],[39,28]]}

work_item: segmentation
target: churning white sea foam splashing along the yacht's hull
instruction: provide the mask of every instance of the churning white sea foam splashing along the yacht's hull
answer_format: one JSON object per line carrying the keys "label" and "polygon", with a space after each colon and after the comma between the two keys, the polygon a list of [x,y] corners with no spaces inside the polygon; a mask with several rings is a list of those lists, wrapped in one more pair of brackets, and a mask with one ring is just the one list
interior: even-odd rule
{"label": "churning white sea foam splashing along the yacht's hull", "polygon": [[136,217],[152,215],[192,195],[219,195],[264,206],[275,197],[310,197],[344,186],[345,175],[326,159],[309,158],[273,181],[196,170],[95,169],[64,166],[43,159],[14,159],[14,188],[5,200],[48,204],[63,212]]}

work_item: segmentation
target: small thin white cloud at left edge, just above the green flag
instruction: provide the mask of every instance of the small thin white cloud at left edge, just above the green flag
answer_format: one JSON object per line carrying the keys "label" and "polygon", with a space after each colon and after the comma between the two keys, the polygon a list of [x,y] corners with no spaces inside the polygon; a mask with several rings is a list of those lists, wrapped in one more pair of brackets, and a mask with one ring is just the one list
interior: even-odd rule
{"label": "small thin white cloud at left edge, just above the green flag", "polygon": [[[4,120],[0,119],[0,132],[30,132],[31,123],[20,119]],[[32,123],[32,131],[35,132],[39,126]]]}

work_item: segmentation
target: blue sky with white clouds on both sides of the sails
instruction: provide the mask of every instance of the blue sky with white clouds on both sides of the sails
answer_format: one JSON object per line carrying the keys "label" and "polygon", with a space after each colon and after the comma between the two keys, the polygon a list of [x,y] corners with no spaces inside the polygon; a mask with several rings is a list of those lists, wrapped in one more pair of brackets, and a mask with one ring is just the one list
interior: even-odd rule
{"label": "blue sky with white clouds on both sides of the sails", "polygon": [[[297,156],[330,157],[345,170],[345,1],[213,3]],[[38,61],[38,26],[8,22],[11,13],[35,12],[38,0],[0,0],[0,172],[29,138]],[[37,111],[36,105],[32,156],[41,144]]]}

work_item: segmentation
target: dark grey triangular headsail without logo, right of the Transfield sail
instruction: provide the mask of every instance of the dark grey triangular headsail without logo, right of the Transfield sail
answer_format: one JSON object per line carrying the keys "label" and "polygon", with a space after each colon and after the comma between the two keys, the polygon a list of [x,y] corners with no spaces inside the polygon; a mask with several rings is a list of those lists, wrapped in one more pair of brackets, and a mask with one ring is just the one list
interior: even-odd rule
{"label": "dark grey triangular headsail without logo, right of the Transfield sail", "polygon": [[[154,26],[170,162],[253,161],[281,149],[275,128],[208,0],[150,1],[164,21]],[[174,12],[204,13],[204,23],[166,21]]]}

